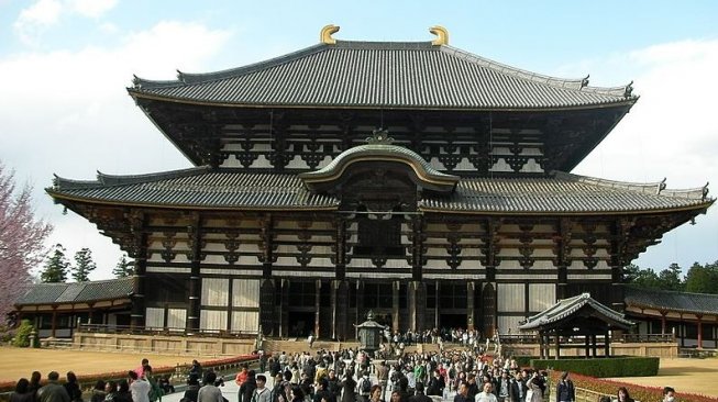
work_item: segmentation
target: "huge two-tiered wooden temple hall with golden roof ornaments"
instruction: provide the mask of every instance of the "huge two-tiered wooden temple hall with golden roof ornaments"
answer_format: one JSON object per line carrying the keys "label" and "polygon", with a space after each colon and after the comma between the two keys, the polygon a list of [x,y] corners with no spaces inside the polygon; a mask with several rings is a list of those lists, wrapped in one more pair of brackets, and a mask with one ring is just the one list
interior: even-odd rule
{"label": "huge two-tiered wooden temple hall with golden roof ornaments", "polygon": [[135,77],[130,96],[194,167],[47,189],[135,259],[132,325],[346,339],[372,310],[401,332],[515,333],[583,293],[622,309],[623,267],[715,201],[571,172],[631,85],[502,65],[440,26],[409,43],[338,31]]}

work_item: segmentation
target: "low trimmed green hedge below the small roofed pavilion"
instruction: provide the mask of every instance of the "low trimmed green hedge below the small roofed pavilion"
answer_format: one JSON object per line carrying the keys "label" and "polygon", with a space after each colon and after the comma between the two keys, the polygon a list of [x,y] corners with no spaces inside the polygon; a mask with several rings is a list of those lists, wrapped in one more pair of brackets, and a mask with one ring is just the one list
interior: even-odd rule
{"label": "low trimmed green hedge below the small roofed pavilion", "polygon": [[610,357],[593,359],[532,359],[535,369],[551,368],[590,377],[651,377],[659,373],[658,357]]}

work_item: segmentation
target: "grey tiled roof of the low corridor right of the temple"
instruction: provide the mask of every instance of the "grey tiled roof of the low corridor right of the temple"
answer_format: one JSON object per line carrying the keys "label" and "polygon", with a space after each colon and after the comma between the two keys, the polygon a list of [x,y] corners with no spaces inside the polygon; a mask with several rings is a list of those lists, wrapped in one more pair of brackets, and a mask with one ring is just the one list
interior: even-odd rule
{"label": "grey tiled roof of the low corridor right of the temple", "polygon": [[627,306],[718,315],[718,294],[625,287]]}

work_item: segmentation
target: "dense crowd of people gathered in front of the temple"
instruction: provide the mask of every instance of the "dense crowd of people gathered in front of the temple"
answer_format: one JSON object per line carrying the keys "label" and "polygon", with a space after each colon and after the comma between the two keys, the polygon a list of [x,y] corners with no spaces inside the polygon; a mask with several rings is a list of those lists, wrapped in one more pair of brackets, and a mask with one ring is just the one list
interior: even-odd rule
{"label": "dense crowd of people gathered in front of the temple", "polygon": [[[244,366],[235,376],[238,402],[431,402],[432,397],[453,402],[542,402],[548,393],[555,402],[576,400],[567,372],[549,390],[545,372],[471,348],[406,353],[378,364],[369,364],[369,356],[356,349],[261,355],[259,372]],[[20,379],[10,402],[162,402],[164,394],[175,392],[168,377],[152,375],[147,359],[128,371],[126,379],[97,381],[89,395],[84,395],[73,371],[62,383],[59,373],[51,371],[41,384],[38,371],[30,380]],[[180,402],[228,402],[223,384],[221,376],[194,360]],[[672,402],[675,390],[666,387],[663,394],[664,402]],[[633,399],[620,387],[605,401]]]}

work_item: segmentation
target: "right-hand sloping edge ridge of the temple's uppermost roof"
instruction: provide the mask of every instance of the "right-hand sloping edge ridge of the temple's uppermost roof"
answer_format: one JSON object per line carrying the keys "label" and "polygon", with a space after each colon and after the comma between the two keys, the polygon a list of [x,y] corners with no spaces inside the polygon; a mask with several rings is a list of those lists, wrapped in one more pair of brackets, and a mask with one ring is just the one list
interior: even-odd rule
{"label": "right-hand sloping edge ridge of the temple's uppermost roof", "polygon": [[626,99],[638,99],[638,96],[633,94],[633,81],[629,82],[628,85],[618,87],[590,87],[588,86],[588,78],[590,75],[586,75],[586,77],[583,78],[560,78],[545,74],[529,71],[519,67],[513,67],[508,64],[496,62],[488,57],[479,56],[475,53],[453,47],[451,45],[441,45],[440,47],[442,52],[448,53],[454,57],[463,58],[479,66],[490,68],[500,74],[508,74],[519,79],[544,83],[563,89],[608,94]]}

